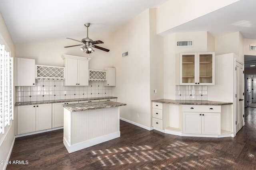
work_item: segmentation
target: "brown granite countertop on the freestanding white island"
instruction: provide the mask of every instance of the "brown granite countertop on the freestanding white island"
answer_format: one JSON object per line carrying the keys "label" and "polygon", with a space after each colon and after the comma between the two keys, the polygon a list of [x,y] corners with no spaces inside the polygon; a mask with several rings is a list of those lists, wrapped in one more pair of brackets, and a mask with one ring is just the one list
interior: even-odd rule
{"label": "brown granite countertop on the freestanding white island", "polygon": [[64,108],[68,109],[71,112],[91,110],[91,109],[103,109],[103,108],[119,107],[119,106],[126,106],[126,104],[119,103],[119,102],[112,102],[112,101],[102,101],[102,102],[63,105]]}

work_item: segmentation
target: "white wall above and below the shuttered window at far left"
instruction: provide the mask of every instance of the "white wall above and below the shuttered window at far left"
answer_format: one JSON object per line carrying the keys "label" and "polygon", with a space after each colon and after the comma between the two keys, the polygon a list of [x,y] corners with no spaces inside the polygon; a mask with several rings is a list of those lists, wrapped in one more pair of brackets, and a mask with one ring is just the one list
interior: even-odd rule
{"label": "white wall above and below the shuttered window at far left", "polygon": [[[15,57],[15,45],[12,41],[12,37],[5,25],[2,14],[0,13],[0,39],[3,41],[11,51],[12,57]],[[15,95],[14,95],[15,97]],[[14,98],[15,103],[15,98]],[[16,117],[14,117],[16,119]],[[12,152],[12,147],[14,144],[14,121],[11,121],[10,126],[5,127],[5,133],[0,134],[0,160],[8,160]],[[0,164],[0,169],[6,168],[6,164]]]}

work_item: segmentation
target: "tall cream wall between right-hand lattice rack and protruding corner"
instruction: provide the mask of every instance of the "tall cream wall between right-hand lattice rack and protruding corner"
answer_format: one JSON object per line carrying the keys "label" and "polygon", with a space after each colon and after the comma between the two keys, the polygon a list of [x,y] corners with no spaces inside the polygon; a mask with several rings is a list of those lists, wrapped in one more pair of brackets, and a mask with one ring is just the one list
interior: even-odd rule
{"label": "tall cream wall between right-hand lattice rack and protruding corner", "polygon": [[[120,107],[120,117],[150,127],[150,39],[149,10],[130,20],[113,33],[112,55],[116,68],[113,96]],[[128,51],[128,56],[122,53]],[[137,114],[139,117],[137,117]]]}

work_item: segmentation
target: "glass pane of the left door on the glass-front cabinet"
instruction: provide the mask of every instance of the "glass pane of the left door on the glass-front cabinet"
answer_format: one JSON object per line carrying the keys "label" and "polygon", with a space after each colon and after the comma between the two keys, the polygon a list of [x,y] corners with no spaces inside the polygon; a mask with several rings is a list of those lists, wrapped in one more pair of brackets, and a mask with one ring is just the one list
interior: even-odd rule
{"label": "glass pane of the left door on the glass-front cabinet", "polygon": [[195,83],[196,55],[182,55],[182,83]]}

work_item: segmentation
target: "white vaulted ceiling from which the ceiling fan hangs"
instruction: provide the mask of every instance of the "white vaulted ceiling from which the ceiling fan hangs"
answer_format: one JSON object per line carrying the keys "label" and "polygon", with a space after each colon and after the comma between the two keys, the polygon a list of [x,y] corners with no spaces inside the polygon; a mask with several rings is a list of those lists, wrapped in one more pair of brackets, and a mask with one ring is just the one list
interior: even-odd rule
{"label": "white vaulted ceiling from which the ceiling fan hangs", "polygon": [[0,0],[0,12],[15,44],[111,33],[167,0]]}

